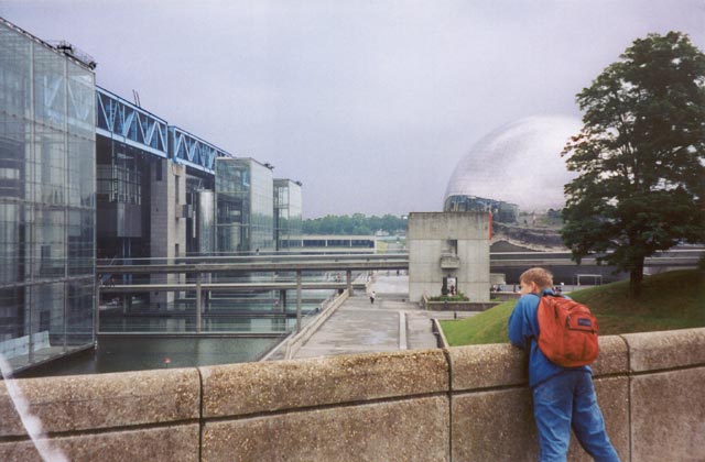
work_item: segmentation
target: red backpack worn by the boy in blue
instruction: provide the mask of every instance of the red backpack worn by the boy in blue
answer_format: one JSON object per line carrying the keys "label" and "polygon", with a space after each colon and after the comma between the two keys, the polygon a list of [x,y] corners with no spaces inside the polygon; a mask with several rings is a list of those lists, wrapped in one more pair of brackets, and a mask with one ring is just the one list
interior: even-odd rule
{"label": "red backpack worn by the boy in blue", "polygon": [[590,364],[598,354],[597,319],[570,298],[545,295],[539,302],[539,348],[563,367]]}

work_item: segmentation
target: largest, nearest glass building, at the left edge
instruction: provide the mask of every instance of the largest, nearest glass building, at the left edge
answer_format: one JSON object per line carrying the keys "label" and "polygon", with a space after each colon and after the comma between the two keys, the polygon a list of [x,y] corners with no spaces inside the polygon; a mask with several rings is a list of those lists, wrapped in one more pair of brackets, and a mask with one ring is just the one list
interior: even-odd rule
{"label": "largest, nearest glass building, at the left edge", "polygon": [[0,18],[0,353],[94,343],[95,64]]}

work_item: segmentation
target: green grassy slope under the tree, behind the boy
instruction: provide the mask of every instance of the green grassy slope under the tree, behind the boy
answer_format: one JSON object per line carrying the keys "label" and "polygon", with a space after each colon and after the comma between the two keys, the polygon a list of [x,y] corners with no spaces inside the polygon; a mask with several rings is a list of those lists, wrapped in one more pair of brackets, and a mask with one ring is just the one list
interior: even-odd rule
{"label": "green grassy slope under the tree, behind the boy", "polygon": [[[627,296],[629,282],[571,293],[590,307],[601,336],[705,327],[705,274],[674,271],[644,278],[639,301]],[[451,345],[507,342],[507,319],[516,300],[506,301],[471,318],[442,321]]]}

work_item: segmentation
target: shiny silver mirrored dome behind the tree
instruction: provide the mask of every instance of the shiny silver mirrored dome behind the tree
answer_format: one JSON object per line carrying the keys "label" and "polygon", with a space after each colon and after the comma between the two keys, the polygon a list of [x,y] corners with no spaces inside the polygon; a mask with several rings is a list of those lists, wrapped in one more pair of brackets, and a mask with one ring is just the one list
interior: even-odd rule
{"label": "shiny silver mirrored dome behind the tree", "polygon": [[581,127],[566,116],[534,116],[500,127],[458,163],[444,200],[469,196],[516,204],[524,211],[562,208],[563,186],[575,174],[561,152]]}

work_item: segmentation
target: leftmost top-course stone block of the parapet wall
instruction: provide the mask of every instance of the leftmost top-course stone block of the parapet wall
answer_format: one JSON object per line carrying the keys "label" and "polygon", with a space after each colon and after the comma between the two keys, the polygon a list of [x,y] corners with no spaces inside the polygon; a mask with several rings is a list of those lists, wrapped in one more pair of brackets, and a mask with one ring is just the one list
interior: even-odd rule
{"label": "leftmost top-course stone block of the parapet wall", "polygon": [[[197,419],[195,369],[14,380],[46,432]],[[0,383],[0,437],[23,436],[13,399]]]}

